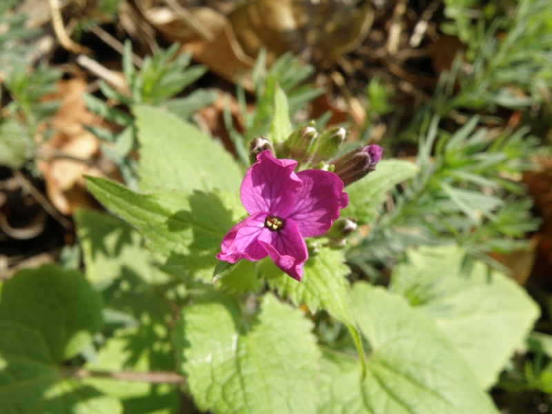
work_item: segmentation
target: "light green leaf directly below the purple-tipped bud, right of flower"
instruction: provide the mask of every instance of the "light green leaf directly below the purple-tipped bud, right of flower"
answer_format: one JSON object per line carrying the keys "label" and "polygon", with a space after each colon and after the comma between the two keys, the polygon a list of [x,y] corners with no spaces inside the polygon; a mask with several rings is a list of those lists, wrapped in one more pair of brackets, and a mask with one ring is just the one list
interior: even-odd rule
{"label": "light green leaf directly below the purple-tipped bud, right of flower", "polygon": [[386,159],[377,164],[376,170],[346,188],[349,204],[341,217],[355,217],[359,224],[367,224],[377,216],[386,193],[402,181],[414,177],[418,172],[415,164],[398,159]]}

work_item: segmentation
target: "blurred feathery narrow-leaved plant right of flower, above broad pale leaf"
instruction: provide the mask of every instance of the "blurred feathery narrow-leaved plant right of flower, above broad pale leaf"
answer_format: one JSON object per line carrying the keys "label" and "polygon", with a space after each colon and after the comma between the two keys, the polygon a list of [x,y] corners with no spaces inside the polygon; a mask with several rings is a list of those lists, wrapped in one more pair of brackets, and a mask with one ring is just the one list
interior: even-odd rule
{"label": "blurred feathery narrow-leaved plant right of flower, above broad pale leaf", "polygon": [[451,242],[497,266],[486,253],[526,248],[522,237],[539,224],[529,201],[515,195],[524,187],[510,178],[531,165],[535,139],[525,130],[492,135],[477,128],[477,117],[449,135],[437,128],[438,121],[433,119],[420,141],[420,172],[395,192],[393,209],[348,255],[368,273],[375,273],[374,263],[394,262],[408,246]]}

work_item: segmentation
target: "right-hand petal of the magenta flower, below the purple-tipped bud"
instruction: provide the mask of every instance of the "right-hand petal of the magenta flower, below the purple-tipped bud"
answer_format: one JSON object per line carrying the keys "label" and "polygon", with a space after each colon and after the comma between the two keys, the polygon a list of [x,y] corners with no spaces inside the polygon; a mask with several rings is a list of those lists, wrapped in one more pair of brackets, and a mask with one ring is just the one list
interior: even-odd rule
{"label": "right-hand petal of the magenta flower, below the purple-tipped bud", "polygon": [[297,222],[303,237],[319,236],[329,230],[339,218],[339,208],[345,208],[349,202],[343,181],[333,172],[323,170],[299,171],[297,177],[303,186],[288,217]]}

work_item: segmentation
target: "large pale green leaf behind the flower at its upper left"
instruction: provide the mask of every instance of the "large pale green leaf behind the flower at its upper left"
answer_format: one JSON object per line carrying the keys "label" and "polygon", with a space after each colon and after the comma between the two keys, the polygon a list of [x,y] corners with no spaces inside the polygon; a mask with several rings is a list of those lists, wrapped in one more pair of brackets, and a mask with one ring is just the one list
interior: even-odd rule
{"label": "large pale green leaf behind the flower at its upper left", "polygon": [[136,106],[140,189],[237,191],[242,171],[230,153],[170,112]]}

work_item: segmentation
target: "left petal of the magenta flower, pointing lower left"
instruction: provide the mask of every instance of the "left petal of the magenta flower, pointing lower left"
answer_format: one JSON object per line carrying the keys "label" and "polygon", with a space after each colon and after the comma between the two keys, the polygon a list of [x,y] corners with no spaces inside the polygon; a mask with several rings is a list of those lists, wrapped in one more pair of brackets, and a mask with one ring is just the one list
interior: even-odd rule
{"label": "left petal of the magenta flower, pointing lower left", "polygon": [[270,233],[270,230],[264,226],[267,215],[262,212],[255,213],[230,228],[222,239],[221,252],[217,254],[217,259],[235,263],[239,259],[255,262],[266,257],[268,253],[257,239],[264,232]]}

